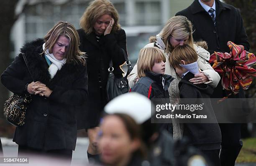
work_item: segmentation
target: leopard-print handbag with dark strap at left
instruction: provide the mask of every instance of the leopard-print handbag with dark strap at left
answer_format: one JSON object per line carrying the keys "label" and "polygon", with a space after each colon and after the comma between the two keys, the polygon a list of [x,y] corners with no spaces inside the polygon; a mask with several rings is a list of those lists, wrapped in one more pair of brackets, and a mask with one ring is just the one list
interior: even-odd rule
{"label": "leopard-print handbag with dark strap at left", "polygon": [[[28,61],[26,59],[25,54],[23,52],[21,52],[21,54],[26,63],[26,66],[28,67]],[[28,68],[28,72],[31,75],[29,68]],[[36,81],[33,79],[33,82],[36,82]],[[23,126],[25,124],[26,109],[28,107],[28,104],[31,102],[31,100],[32,100],[31,94],[11,95],[4,104],[4,116],[7,119],[7,121],[16,127]]]}

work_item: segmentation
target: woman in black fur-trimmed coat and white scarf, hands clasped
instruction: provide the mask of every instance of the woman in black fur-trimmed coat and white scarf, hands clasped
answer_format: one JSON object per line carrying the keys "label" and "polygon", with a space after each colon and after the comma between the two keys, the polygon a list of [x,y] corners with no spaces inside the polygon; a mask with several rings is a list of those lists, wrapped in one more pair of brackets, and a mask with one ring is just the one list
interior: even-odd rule
{"label": "woman in black fur-trimmed coat and white scarf, hands clasped", "polygon": [[[26,43],[22,55],[3,72],[2,84],[15,94],[31,94],[26,121],[15,130],[18,155],[43,154],[72,159],[77,139],[75,106],[87,99],[87,67],[79,36],[68,22],[58,22],[44,39]],[[35,82],[33,82],[33,79]]]}

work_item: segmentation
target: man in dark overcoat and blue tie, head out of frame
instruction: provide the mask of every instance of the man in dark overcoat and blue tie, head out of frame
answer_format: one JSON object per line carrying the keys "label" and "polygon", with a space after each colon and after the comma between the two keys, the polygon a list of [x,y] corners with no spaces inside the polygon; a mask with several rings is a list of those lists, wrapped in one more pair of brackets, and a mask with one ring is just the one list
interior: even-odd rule
{"label": "man in dark overcoat and blue tie, head out of frame", "polygon": [[[228,41],[243,45],[247,51],[250,48],[239,10],[220,2],[220,0],[194,0],[189,7],[176,15],[184,15],[192,22],[195,28],[194,40],[205,40],[211,54],[214,51],[230,52],[227,46]],[[222,98],[229,93],[223,90],[220,81],[212,98]],[[242,89],[237,95],[231,95],[231,97],[245,98]],[[215,104],[212,106],[214,107]],[[220,161],[222,166],[235,164],[242,147],[240,128],[240,124],[220,124],[222,134]]]}

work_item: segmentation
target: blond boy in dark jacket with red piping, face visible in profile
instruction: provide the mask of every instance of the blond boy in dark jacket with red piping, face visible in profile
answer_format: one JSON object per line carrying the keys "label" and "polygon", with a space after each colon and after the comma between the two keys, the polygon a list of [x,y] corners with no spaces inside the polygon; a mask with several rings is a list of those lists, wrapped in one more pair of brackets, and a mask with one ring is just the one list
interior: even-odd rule
{"label": "blond boy in dark jacket with red piping, face visible in profile", "polygon": [[138,57],[138,82],[130,89],[130,92],[138,92],[148,97],[169,98],[168,88],[174,78],[165,71],[166,58],[157,47],[141,49]]}

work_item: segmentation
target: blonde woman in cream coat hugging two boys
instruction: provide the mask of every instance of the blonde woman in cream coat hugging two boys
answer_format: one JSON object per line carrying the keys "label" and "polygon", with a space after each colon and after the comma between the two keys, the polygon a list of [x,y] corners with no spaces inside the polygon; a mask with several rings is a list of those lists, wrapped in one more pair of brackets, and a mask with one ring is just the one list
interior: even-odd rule
{"label": "blonde woman in cream coat hugging two boys", "polygon": [[[207,44],[205,42],[194,43],[192,37],[192,23],[187,17],[174,16],[170,18],[156,37],[150,37],[150,43],[145,47],[159,47],[165,53],[166,59],[169,59],[172,49],[178,45],[184,44],[192,45],[195,48],[198,56],[198,66],[201,70],[200,74],[196,74],[195,78],[190,79],[189,81],[194,84],[209,84],[213,88],[217,87],[218,82],[220,81],[220,76],[207,62],[210,59],[210,53],[205,50],[207,49]],[[180,78],[176,74],[174,68],[170,65],[169,61],[166,61],[164,74],[169,74],[175,78],[168,89],[170,100],[174,103],[179,98],[178,83]],[[128,75],[129,86],[132,87],[136,81],[138,81],[137,64]],[[182,138],[182,129],[182,124],[179,124],[178,121],[173,121],[174,140]]]}

